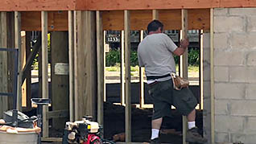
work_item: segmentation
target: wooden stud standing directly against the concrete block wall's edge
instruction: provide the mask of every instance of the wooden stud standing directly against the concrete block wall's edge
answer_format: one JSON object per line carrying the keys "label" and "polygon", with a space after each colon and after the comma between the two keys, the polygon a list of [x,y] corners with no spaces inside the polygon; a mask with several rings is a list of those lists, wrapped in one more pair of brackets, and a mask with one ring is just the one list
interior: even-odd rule
{"label": "wooden stud standing directly against the concrete block wall's edge", "polygon": [[210,68],[211,68],[211,140],[215,143],[215,101],[214,101],[214,9],[211,9],[210,29]]}

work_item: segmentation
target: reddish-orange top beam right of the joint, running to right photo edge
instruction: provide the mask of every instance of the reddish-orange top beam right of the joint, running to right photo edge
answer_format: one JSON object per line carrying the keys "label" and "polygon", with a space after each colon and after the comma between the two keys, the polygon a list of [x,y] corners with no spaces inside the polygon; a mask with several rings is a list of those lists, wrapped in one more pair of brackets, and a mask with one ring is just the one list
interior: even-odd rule
{"label": "reddish-orange top beam right of the joint, running to right photo edge", "polygon": [[[256,7],[254,0],[86,0],[86,10],[167,10]],[[85,0],[83,1],[85,2]],[[77,2],[77,5],[81,5]]]}

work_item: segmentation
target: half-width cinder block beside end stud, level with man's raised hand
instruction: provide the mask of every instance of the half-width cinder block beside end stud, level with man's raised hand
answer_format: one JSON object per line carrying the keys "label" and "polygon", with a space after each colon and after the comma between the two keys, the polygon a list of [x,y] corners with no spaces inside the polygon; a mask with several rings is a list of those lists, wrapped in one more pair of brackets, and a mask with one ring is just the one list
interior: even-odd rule
{"label": "half-width cinder block beside end stud, level with man's raised hand", "polygon": [[229,47],[229,34],[227,33],[214,33],[214,48],[226,49]]}

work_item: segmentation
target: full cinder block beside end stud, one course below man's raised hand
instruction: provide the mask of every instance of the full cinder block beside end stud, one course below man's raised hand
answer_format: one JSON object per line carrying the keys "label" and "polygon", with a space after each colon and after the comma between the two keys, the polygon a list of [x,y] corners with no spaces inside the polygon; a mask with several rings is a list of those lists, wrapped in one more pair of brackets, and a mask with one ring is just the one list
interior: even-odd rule
{"label": "full cinder block beside end stud, one course below man's raised hand", "polygon": [[214,65],[216,66],[242,66],[245,60],[243,51],[214,51]]}

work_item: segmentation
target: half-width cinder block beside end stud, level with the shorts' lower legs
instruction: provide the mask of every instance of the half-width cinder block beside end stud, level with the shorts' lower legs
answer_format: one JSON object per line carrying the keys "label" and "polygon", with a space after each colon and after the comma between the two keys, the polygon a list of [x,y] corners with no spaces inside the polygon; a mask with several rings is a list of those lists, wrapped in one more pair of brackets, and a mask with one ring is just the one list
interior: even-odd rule
{"label": "half-width cinder block beside end stud, level with the shorts' lower legs", "polygon": [[215,114],[229,114],[229,101],[215,100]]}

